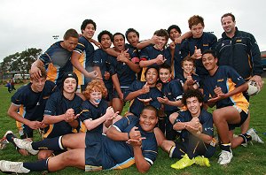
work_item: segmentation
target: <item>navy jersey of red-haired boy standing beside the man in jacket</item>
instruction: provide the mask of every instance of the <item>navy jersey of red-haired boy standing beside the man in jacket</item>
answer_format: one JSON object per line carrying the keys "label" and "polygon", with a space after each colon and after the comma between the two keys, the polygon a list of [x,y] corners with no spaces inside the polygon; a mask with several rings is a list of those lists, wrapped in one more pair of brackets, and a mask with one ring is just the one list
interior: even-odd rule
{"label": "navy jersey of red-haired boy standing beside the man in jacket", "polygon": [[[193,38],[190,37],[184,41],[181,48],[181,54],[182,57],[192,56],[195,51],[195,46],[197,46],[197,49],[201,50],[201,53],[203,53],[207,49],[215,49],[215,44],[217,42],[217,38],[215,34],[206,33],[203,32],[202,36],[200,38]],[[196,59],[196,73],[200,77],[205,77],[208,75],[207,70],[202,65],[201,59]]]}

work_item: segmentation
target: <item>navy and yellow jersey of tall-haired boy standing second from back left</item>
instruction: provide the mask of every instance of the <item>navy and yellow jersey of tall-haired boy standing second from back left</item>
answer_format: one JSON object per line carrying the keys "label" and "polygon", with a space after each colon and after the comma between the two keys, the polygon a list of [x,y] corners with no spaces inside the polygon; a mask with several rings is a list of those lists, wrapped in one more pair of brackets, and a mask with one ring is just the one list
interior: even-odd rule
{"label": "navy and yellow jersey of tall-haired boy standing second from back left", "polygon": [[[91,68],[93,66],[93,54],[94,54],[94,47],[93,45],[84,37],[81,36],[79,38],[79,42],[74,49],[74,52],[77,52],[81,55],[79,57],[80,64],[84,67],[84,69],[88,70],[89,72],[92,71]],[[78,76],[79,85],[85,84],[85,77],[82,72],[79,72],[77,69],[74,68],[75,74]]]}

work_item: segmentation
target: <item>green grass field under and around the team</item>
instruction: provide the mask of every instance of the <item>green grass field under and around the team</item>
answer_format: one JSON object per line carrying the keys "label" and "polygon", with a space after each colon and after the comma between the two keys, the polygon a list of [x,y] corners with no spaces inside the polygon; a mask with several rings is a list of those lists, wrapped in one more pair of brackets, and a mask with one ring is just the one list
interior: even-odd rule
{"label": "green grass field under and around the team", "polygon": [[[265,85],[264,85],[265,86]],[[18,86],[17,86],[18,87]],[[10,106],[12,92],[9,94],[6,87],[0,86],[0,137],[4,135],[7,130],[12,130],[18,133],[15,126],[15,121],[6,115]],[[259,95],[251,98],[251,123],[250,126],[254,127],[263,141],[266,141],[266,87],[264,87]],[[236,131],[238,133],[239,130]],[[192,165],[182,171],[176,171],[170,168],[170,164],[176,163],[176,159],[168,158],[168,154],[159,149],[159,156],[153,164],[148,174],[266,174],[266,144],[259,144],[254,142],[254,145],[249,144],[247,148],[239,147],[233,150],[233,159],[231,164],[227,166],[220,166],[216,163],[220,149],[210,159],[211,167],[200,167]],[[36,156],[20,156],[13,148],[12,144],[7,144],[7,147],[0,150],[0,160],[11,161],[35,161]],[[50,174],[77,174],[83,171],[75,168],[67,168],[63,171],[58,171]],[[88,173],[88,172],[87,172]],[[92,172],[93,174],[136,174],[137,169],[135,166],[121,171],[99,171]],[[1,174],[1,172],[0,172]],[[4,174],[4,173],[2,173]],[[32,172],[31,174],[41,174],[40,172]]]}

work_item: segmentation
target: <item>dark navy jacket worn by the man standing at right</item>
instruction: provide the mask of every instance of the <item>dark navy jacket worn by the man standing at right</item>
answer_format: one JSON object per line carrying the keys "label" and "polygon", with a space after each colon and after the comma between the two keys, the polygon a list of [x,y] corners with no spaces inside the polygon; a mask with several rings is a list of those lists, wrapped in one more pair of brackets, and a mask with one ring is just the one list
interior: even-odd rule
{"label": "dark navy jacket worn by the man standing at right", "polygon": [[223,32],[215,47],[219,65],[230,65],[245,79],[263,72],[261,52],[253,34],[239,31],[236,27],[232,38]]}

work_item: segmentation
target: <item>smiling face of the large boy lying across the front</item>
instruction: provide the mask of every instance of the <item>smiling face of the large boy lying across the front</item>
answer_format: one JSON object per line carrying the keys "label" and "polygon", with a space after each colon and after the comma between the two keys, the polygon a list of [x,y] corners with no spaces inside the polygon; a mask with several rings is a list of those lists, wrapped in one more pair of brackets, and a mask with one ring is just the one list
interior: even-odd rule
{"label": "smiling face of the large boy lying across the front", "polygon": [[152,132],[157,122],[158,118],[154,110],[145,109],[140,114],[139,125],[145,132]]}

